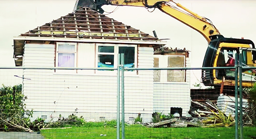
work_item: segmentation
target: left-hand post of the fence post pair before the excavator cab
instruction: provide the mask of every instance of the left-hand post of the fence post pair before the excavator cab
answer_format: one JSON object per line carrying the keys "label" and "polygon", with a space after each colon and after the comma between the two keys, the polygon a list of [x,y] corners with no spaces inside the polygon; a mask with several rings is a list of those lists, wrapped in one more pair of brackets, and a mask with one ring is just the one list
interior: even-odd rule
{"label": "left-hand post of the fence post pair before the excavator cab", "polygon": [[235,121],[236,121],[236,133],[235,137],[238,139],[238,54],[235,55],[235,97],[236,97],[236,112],[235,112]]}

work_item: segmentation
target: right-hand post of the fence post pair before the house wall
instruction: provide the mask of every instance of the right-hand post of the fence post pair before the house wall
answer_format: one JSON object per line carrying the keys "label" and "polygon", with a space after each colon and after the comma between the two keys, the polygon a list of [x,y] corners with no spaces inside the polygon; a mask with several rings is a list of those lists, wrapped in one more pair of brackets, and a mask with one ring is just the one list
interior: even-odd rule
{"label": "right-hand post of the fence post pair before the house wall", "polygon": [[122,84],[122,139],[125,139],[125,55],[121,54],[121,84]]}

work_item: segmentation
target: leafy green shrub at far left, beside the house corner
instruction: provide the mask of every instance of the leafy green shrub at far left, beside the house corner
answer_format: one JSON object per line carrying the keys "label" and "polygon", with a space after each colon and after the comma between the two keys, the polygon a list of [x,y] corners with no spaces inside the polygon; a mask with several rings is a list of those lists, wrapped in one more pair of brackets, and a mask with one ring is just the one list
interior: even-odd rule
{"label": "leafy green shrub at far left, beside the house corner", "polygon": [[[21,130],[19,126],[29,128],[29,117],[33,111],[26,110],[27,99],[21,92],[22,85],[0,87],[0,128],[5,131]],[[15,125],[16,127],[14,127]]]}

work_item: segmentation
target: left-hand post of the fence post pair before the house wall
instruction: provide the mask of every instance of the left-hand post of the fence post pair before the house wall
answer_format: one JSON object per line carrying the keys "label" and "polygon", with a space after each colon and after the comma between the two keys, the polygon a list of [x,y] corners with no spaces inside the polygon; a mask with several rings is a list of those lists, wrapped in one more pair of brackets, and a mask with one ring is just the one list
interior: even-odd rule
{"label": "left-hand post of the fence post pair before the house wall", "polygon": [[117,117],[116,117],[116,139],[120,139],[120,54],[117,59]]}

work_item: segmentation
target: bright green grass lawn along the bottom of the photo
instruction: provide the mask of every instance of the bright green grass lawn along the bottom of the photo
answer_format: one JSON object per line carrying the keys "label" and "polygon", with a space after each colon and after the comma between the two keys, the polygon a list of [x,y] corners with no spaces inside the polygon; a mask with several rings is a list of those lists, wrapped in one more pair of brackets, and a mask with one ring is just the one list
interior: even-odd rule
{"label": "bright green grass lawn along the bottom of the photo", "polygon": [[[244,127],[243,133],[244,139],[256,139],[256,128]],[[116,139],[116,128],[48,129],[41,130],[41,134],[45,139]],[[146,128],[131,125],[125,127],[125,139],[235,139],[235,128]]]}

